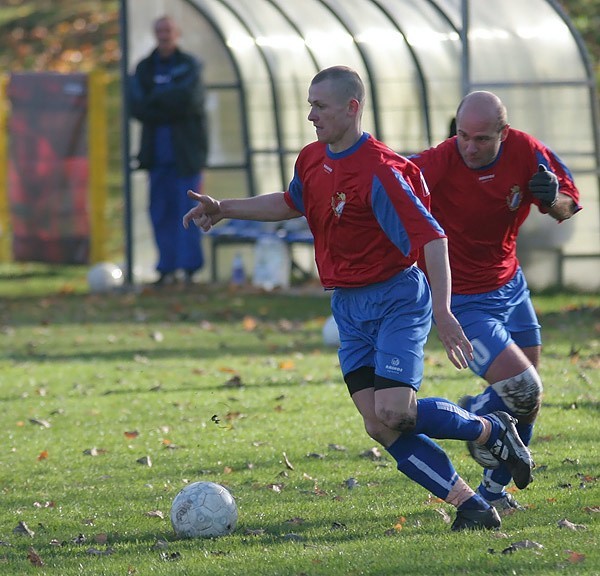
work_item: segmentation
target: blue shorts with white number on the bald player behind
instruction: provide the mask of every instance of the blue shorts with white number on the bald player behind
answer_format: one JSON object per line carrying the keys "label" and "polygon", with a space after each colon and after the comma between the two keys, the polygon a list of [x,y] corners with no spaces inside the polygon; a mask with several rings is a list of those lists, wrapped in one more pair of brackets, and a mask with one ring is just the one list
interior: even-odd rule
{"label": "blue shorts with white number on the bald player behind", "polygon": [[519,268],[507,284],[483,294],[453,294],[452,312],[473,345],[469,367],[484,376],[510,344],[540,346],[542,336],[529,288]]}

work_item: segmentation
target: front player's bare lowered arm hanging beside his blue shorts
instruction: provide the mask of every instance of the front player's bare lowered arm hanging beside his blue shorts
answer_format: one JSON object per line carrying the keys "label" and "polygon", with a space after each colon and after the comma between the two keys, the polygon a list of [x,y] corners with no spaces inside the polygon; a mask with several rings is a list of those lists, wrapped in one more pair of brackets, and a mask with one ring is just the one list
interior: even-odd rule
{"label": "front player's bare lowered arm hanging beside his blue shorts", "polygon": [[438,335],[452,364],[457,368],[466,368],[467,360],[473,359],[473,346],[450,311],[448,240],[439,238],[428,242],[424,246],[424,253]]}

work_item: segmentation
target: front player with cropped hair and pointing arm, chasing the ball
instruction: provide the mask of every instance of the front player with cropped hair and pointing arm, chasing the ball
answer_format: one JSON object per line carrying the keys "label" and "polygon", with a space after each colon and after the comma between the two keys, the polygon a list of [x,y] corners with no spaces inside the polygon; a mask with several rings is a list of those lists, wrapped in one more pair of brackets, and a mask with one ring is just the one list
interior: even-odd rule
{"label": "front player with cropped hair and pointing arm, chasing the ball", "polygon": [[[417,400],[432,310],[457,368],[467,367],[472,348],[450,312],[446,238],[427,210],[424,180],[414,164],[362,131],[364,98],[353,70],[319,72],[308,91],[308,120],[318,141],[300,152],[288,190],[221,201],[191,192],[198,205],[183,223],[206,231],[223,218],[305,215],[320,280],[333,290],[342,373],[367,433],[406,476],[456,506],[453,530],[497,528],[495,509],[432,438],[485,445],[506,462],[521,488],[531,479],[529,451],[508,414],[479,417],[443,398]],[[420,250],[431,292],[415,266]]]}

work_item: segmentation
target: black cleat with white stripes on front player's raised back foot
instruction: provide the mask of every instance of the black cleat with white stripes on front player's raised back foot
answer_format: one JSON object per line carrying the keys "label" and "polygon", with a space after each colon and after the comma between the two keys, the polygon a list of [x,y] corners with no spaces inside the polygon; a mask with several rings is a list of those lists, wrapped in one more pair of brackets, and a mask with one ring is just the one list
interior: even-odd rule
{"label": "black cleat with white stripes on front player's raised back foot", "polygon": [[529,449],[519,438],[519,433],[515,427],[516,420],[506,412],[492,412],[484,418],[500,426],[500,435],[494,444],[488,447],[490,454],[499,463],[506,465],[517,488],[521,490],[527,488],[533,480],[531,471],[535,464],[531,459]]}

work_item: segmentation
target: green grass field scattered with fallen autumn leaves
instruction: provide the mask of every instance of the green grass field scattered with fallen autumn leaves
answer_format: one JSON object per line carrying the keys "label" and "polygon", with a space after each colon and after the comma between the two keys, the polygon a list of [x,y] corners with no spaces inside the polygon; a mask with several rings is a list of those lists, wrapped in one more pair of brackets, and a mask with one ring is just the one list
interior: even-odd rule
{"label": "green grass field scattered with fallen autumn leaves", "polygon": [[[527,510],[456,534],[453,509],[373,451],[318,290],[99,296],[80,268],[0,267],[0,574],[600,574],[600,297],[534,303]],[[432,335],[420,395],[480,386]],[[442,444],[475,486],[464,444]],[[175,538],[171,501],[195,480],[231,490],[233,535]]]}

